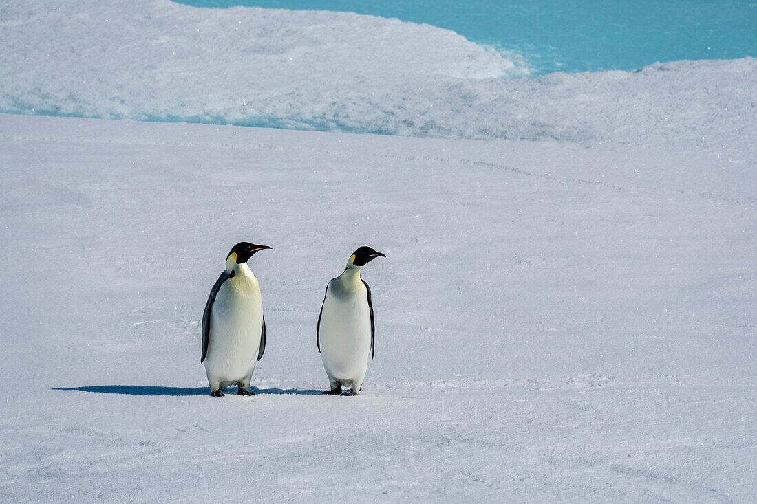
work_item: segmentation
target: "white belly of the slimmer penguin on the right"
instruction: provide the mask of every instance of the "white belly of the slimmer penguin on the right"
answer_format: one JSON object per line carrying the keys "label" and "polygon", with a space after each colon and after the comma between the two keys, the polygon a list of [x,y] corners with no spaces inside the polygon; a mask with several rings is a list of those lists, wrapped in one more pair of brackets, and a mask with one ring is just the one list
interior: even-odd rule
{"label": "white belly of the slimmer penguin on the right", "polygon": [[[326,374],[344,385],[363,381],[371,348],[371,318],[366,296],[326,294],[319,328]],[[344,383],[348,381],[350,383]]]}

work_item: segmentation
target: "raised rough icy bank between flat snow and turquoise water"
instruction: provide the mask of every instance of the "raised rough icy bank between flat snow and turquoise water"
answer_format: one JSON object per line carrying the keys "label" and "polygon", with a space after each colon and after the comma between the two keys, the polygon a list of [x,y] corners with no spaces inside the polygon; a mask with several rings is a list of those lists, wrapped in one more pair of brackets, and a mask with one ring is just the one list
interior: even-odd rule
{"label": "raised rough icy bank between flat snow and turquoise water", "polygon": [[528,62],[435,26],[168,0],[4,2],[0,42],[0,112],[757,159],[755,58],[503,79]]}

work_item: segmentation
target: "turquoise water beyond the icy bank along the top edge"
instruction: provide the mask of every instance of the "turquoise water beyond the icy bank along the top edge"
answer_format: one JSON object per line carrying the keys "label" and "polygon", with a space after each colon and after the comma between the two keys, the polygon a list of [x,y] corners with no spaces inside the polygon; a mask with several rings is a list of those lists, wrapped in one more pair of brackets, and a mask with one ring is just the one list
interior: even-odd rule
{"label": "turquoise water beyond the icy bank along the top edge", "polygon": [[180,0],[398,17],[521,54],[536,74],[757,57],[757,0]]}

